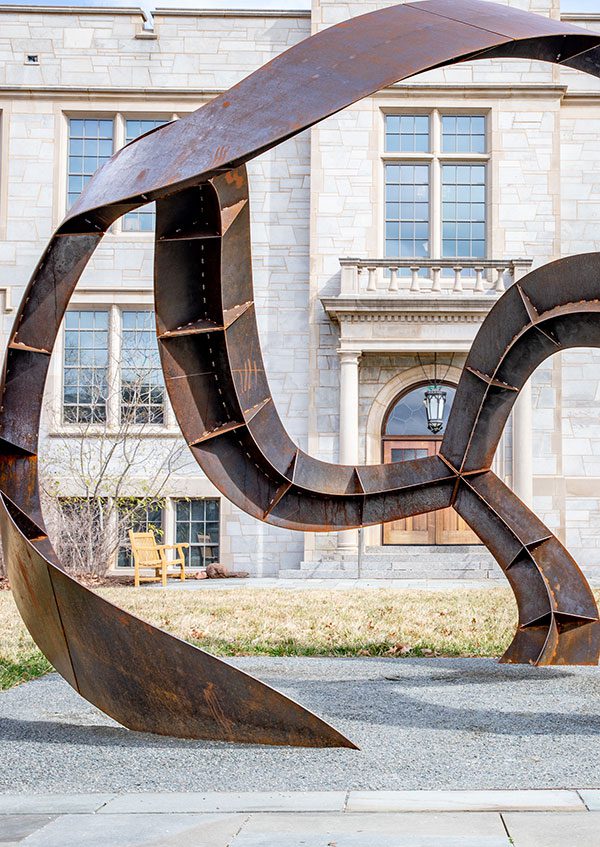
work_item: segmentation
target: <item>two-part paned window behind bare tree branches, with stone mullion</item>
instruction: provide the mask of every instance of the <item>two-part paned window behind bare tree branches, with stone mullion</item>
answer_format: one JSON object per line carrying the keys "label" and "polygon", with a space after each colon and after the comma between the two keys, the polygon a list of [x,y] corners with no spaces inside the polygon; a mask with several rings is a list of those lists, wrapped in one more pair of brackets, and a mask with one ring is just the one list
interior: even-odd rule
{"label": "two-part paned window behind bare tree branches, with stone mullion", "polygon": [[151,310],[67,312],[64,423],[164,424],[165,402]]}

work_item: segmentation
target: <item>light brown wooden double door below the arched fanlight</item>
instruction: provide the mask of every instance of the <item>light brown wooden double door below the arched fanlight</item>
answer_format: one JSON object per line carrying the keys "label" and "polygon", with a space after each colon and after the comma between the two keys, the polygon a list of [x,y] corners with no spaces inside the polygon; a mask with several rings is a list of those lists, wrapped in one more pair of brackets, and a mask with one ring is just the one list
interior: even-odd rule
{"label": "light brown wooden double door below the arched fanlight", "polygon": [[[435,456],[441,439],[391,439],[383,442],[384,462],[409,462]],[[454,509],[401,518],[383,525],[384,544],[481,544],[469,525]]]}

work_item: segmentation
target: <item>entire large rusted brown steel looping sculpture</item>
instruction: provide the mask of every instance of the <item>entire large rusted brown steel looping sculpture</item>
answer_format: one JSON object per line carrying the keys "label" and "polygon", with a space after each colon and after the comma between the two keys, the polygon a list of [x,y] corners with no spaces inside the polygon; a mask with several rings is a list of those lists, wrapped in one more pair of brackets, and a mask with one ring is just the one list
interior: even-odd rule
{"label": "entire large rusted brown steel looping sculpture", "polygon": [[503,661],[597,663],[600,623],[587,582],[490,465],[536,366],[559,350],[600,346],[600,254],[535,271],[498,301],[468,357],[439,456],[368,467],[311,458],[277,415],[260,352],[245,163],[386,85],[498,56],[600,76],[600,34],[477,0],[407,3],[354,18],[119,151],[52,238],[6,355],[0,526],[33,638],[77,691],[122,724],[180,737],[353,746],[283,695],[84,588],[64,573],[48,539],[36,452],[50,354],[107,228],[153,200],[166,384],[190,449],[223,494],[259,520],[314,531],[452,505],[517,598],[519,627]]}

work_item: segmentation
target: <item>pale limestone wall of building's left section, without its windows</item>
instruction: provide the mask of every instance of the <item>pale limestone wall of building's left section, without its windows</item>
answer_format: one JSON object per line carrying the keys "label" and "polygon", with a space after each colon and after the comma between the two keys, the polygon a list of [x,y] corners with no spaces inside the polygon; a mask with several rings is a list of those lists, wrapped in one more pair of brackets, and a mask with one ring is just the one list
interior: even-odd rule
{"label": "pale limestone wall of building's left section, without its windows", "polygon": [[[0,288],[18,304],[44,245],[65,213],[68,117],[170,120],[206,102],[309,34],[306,15],[164,14],[156,38],[139,38],[142,18],[123,11],[81,14],[0,9]],[[38,65],[26,56],[38,56]],[[310,139],[304,134],[250,165],[258,319],[273,394],[290,433],[306,446],[308,415],[308,238]],[[151,307],[153,236],[113,228],[84,273],[74,303]],[[0,305],[3,301],[0,298]],[[14,312],[2,310],[2,343]],[[45,399],[44,461],[71,461],[75,440],[57,423],[61,398],[57,349]],[[148,441],[166,453],[171,427]],[[175,430],[175,432],[173,432]],[[146,445],[143,445],[146,450]],[[58,465],[57,465],[58,462]],[[60,474],[59,474],[60,476]],[[64,476],[64,473],[63,473]],[[65,494],[68,479],[62,481]],[[135,488],[135,485],[133,486]],[[72,485],[71,485],[72,488]],[[139,491],[144,493],[144,480]],[[195,463],[164,492],[214,496]],[[222,559],[253,573],[292,567],[299,534],[252,520],[222,500]]]}

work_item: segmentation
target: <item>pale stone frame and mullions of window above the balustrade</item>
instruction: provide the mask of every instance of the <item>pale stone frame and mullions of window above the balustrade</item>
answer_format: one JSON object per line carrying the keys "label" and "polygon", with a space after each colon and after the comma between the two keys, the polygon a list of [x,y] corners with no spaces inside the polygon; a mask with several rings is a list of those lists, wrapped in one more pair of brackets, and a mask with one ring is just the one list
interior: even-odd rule
{"label": "pale stone frame and mullions of window above the balustrade", "polygon": [[[406,164],[428,164],[430,168],[430,188],[429,188],[429,240],[430,258],[438,259],[442,255],[442,165],[444,164],[485,164],[486,168],[486,227],[485,227],[485,242],[486,253],[490,255],[492,249],[492,221],[489,214],[491,186],[491,113],[490,107],[474,106],[470,108],[443,107],[431,108],[426,106],[409,106],[402,104],[396,106],[393,103],[386,103],[379,107],[379,149],[383,167],[380,168],[380,187],[379,196],[384,198],[384,201],[379,204],[378,222],[379,222],[379,243],[381,245],[381,255],[385,255],[385,165],[406,163]],[[429,153],[411,153],[399,152],[389,153],[385,149],[385,119],[387,115],[429,115]],[[476,115],[485,117],[486,119],[486,153],[444,153],[442,151],[442,117],[446,115],[471,116]]]}

